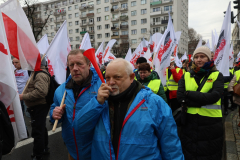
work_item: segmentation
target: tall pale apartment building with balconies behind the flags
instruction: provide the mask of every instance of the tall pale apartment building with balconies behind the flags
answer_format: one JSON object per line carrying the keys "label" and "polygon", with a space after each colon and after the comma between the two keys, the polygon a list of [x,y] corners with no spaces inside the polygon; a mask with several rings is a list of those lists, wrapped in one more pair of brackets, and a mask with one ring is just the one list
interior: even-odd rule
{"label": "tall pale apartment building with balconies behind the flags", "polygon": [[[164,33],[168,12],[175,31],[182,31],[179,52],[188,52],[188,0],[55,0],[40,3],[38,17],[49,22],[42,35],[51,41],[64,20],[73,49],[79,48],[86,32],[97,49],[104,40],[117,42],[113,53],[134,50],[142,38],[149,40],[156,32]],[[40,37],[39,37],[40,38]]]}

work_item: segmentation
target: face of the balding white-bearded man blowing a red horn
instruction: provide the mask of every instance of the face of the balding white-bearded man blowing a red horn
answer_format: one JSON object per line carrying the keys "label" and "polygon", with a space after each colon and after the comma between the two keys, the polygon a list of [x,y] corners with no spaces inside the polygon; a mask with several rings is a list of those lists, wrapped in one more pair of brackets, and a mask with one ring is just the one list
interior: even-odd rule
{"label": "face of the balding white-bearded man blowing a red horn", "polygon": [[107,84],[112,88],[110,95],[115,96],[131,85],[134,80],[134,73],[128,75],[124,63],[116,62],[107,66],[105,77]]}

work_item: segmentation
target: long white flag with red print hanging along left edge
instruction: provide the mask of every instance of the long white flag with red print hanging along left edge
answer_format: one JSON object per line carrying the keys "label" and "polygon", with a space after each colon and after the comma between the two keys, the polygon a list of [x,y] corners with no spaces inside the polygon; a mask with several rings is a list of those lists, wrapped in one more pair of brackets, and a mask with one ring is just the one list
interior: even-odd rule
{"label": "long white flag with red print hanging along left edge", "polygon": [[27,138],[27,132],[1,14],[0,28],[0,101],[7,109],[16,145],[20,140]]}

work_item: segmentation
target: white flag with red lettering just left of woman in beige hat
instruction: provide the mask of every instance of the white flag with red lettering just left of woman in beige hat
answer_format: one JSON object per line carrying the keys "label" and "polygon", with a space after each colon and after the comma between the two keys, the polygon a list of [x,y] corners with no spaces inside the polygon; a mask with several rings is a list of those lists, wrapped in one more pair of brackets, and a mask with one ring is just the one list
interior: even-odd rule
{"label": "white flag with red lettering just left of woman in beige hat", "polygon": [[166,84],[166,69],[170,65],[170,58],[174,47],[177,44],[172,17],[170,13],[168,14],[168,26],[162,36],[162,39],[158,43],[156,58],[154,59],[155,71],[158,72],[163,85]]}

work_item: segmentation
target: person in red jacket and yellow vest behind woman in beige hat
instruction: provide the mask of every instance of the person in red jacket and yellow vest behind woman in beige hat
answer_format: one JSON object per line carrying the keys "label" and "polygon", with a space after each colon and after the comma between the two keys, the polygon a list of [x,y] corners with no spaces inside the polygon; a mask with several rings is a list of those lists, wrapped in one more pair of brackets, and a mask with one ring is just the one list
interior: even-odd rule
{"label": "person in red jacket and yellow vest behind woman in beige hat", "polygon": [[183,71],[175,64],[175,58],[171,57],[171,63],[166,70],[166,85],[164,90],[168,99],[168,105],[171,107],[172,112],[181,107],[177,101],[178,81],[181,79]]}

